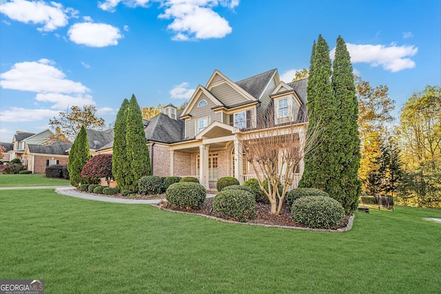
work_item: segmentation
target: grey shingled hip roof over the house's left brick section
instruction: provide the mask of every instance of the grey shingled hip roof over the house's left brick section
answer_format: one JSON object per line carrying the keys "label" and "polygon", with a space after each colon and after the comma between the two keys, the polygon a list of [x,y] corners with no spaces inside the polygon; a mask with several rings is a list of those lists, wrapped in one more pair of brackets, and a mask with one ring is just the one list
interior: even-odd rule
{"label": "grey shingled hip roof over the house's left brick section", "polygon": [[175,143],[183,140],[184,121],[158,114],[147,120],[145,138],[154,142]]}

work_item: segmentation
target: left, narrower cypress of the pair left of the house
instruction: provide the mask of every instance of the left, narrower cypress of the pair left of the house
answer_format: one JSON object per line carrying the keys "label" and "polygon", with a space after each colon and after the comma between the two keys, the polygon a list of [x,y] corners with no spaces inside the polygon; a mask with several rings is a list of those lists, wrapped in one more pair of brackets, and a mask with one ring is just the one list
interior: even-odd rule
{"label": "left, narrower cypress of the pair left of the house", "polygon": [[127,109],[129,109],[129,101],[124,99],[121,107],[119,107],[118,114],[116,114],[114,126],[112,174],[121,189],[127,189],[125,175],[130,167],[129,160],[127,160],[127,143],[125,140]]}

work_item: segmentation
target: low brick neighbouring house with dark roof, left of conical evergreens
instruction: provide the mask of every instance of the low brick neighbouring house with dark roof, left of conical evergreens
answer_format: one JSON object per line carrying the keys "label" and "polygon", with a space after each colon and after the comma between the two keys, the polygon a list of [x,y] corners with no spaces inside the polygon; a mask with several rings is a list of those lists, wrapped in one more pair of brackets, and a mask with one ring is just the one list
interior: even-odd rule
{"label": "low brick neighbouring house with dark roof, left of conical evergreens", "polygon": [[23,154],[24,164],[32,174],[45,174],[49,165],[67,165],[70,142],[57,141],[50,145],[28,144]]}

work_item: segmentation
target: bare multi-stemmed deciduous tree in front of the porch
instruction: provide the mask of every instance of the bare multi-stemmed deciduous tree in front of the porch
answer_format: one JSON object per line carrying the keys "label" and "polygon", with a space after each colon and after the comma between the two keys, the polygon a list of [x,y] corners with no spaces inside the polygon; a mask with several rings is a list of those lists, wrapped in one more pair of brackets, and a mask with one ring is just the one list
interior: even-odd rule
{"label": "bare multi-stemmed deciduous tree in front of the porch", "polygon": [[[274,112],[267,112],[256,127],[238,134],[245,159],[252,165],[260,189],[271,203],[271,213],[276,215],[280,214],[303,157],[320,143],[320,127],[307,130],[305,114],[298,116],[294,112],[288,118],[294,119],[275,120]],[[279,185],[283,185],[282,193]]]}

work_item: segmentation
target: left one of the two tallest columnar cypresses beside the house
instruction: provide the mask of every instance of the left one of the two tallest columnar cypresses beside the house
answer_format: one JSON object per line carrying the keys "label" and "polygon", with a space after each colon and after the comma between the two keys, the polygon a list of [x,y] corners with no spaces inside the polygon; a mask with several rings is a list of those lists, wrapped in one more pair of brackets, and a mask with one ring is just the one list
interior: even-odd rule
{"label": "left one of the two tallest columnar cypresses beside the house", "polygon": [[335,132],[338,121],[334,120],[336,114],[336,101],[331,86],[331,59],[329,47],[322,38],[313,45],[311,65],[307,85],[307,107],[309,129],[322,129],[321,140],[318,147],[305,155],[305,171],[300,180],[299,187],[314,187],[328,190],[329,178],[338,176],[334,159]]}

